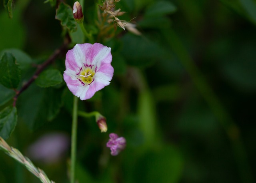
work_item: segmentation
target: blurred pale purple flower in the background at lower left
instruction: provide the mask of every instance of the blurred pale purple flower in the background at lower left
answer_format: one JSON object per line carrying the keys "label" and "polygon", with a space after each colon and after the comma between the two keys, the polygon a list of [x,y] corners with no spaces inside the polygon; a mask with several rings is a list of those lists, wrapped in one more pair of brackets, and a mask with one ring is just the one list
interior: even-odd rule
{"label": "blurred pale purple flower in the background at lower left", "polygon": [[50,133],[40,137],[28,147],[31,159],[54,163],[58,161],[70,146],[70,139],[62,133]]}

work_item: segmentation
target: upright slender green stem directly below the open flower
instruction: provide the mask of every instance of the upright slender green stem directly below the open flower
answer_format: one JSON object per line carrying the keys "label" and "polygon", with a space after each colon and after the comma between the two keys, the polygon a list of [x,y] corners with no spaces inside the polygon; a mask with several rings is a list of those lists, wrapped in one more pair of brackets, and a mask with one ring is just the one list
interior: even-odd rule
{"label": "upright slender green stem directly below the open flower", "polygon": [[77,105],[78,105],[78,97],[74,96],[73,116],[72,116],[72,134],[71,134],[71,166],[70,166],[70,182],[71,183],[75,183],[77,108],[78,108]]}

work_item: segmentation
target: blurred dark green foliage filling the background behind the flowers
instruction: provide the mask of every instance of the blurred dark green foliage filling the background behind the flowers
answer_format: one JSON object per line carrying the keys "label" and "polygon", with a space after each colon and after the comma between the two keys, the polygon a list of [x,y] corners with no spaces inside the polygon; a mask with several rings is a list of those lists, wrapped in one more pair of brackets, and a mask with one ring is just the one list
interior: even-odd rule
{"label": "blurred dark green foliage filling the background behind the flowers", "polygon": [[[100,2],[84,2],[85,26],[94,23]],[[0,56],[8,52],[16,59],[20,88],[64,36],[51,4],[14,3],[12,19],[0,7]],[[122,20],[136,17],[131,22],[142,35],[117,28],[115,38],[102,39],[112,48],[114,78],[92,99],[79,101],[79,110],[99,111],[108,132],[125,137],[127,147],[111,157],[108,134],[100,133],[93,118],[79,117],[79,182],[253,182],[256,1],[121,0],[118,5],[128,12]],[[71,39],[70,49],[82,43],[79,27]],[[62,55],[45,71],[56,72],[48,78],[53,84],[44,83],[49,74],[41,73],[18,97],[18,121],[8,143],[25,155],[44,134],[71,133],[73,95],[60,77],[64,60]],[[16,108],[6,108],[14,95],[0,85],[0,131],[4,117],[15,118]],[[58,162],[34,163],[56,183],[66,183],[69,157],[67,151]],[[0,161],[1,183],[39,182],[2,152]]]}

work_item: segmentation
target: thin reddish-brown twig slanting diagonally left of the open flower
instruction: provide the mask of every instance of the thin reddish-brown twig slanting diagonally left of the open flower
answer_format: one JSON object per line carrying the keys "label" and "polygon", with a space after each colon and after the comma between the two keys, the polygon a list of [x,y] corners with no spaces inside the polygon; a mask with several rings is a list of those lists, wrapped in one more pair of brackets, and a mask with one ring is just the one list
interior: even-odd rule
{"label": "thin reddish-brown twig slanting diagonally left of the open flower", "polygon": [[22,93],[24,90],[26,90],[33,82],[34,80],[36,80],[36,78],[39,76],[39,74],[50,64],[52,64],[52,62],[54,62],[54,60],[62,53],[66,50],[68,44],[70,43],[70,38],[66,39],[64,41],[64,44],[62,44],[62,46],[60,46],[60,48],[58,48],[57,50],[54,51],[54,53],[48,58],[48,60],[46,60],[43,64],[38,66],[38,69],[36,70],[35,74],[30,78],[30,80],[28,80],[28,82],[26,82],[26,84],[24,84],[22,86],[22,88],[20,88],[20,90],[16,91],[16,95],[13,98],[13,106],[16,106],[16,101],[18,99],[18,96],[20,95],[20,93]]}

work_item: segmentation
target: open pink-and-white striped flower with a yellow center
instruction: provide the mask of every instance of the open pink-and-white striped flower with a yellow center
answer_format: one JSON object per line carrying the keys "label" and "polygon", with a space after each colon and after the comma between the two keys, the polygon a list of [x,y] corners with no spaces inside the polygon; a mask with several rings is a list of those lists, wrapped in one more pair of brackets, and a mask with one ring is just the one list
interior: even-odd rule
{"label": "open pink-and-white striped flower with a yellow center", "polygon": [[68,89],[81,100],[110,84],[114,74],[111,48],[100,43],[76,44],[66,54],[64,80]]}

